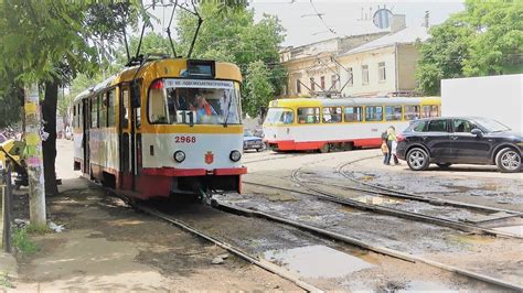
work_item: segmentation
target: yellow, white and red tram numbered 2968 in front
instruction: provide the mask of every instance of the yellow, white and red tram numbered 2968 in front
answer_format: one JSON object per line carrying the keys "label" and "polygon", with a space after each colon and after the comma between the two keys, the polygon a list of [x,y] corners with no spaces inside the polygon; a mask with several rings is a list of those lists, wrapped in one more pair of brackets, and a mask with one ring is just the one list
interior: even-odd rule
{"label": "yellow, white and red tram numbered 2968 in front", "polygon": [[138,198],[241,192],[239,68],[161,58],[126,68],[72,106],[74,167]]}

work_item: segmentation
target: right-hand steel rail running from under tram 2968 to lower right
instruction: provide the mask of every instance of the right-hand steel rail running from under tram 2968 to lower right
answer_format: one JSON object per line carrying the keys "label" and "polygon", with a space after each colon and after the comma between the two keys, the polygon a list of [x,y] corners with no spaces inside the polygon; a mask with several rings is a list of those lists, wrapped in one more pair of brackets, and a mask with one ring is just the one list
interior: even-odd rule
{"label": "right-hand steel rail running from under tram 2968 to lower right", "polygon": [[386,248],[386,247],[375,246],[375,245],[367,243],[365,241],[362,241],[362,240],[359,240],[359,239],[355,239],[355,238],[352,238],[352,237],[349,237],[349,236],[332,232],[332,231],[329,231],[329,230],[325,230],[325,229],[322,229],[322,228],[319,228],[319,227],[314,227],[314,226],[311,226],[311,225],[301,224],[301,223],[298,223],[298,221],[295,221],[295,220],[291,220],[291,219],[278,217],[278,216],[270,215],[270,214],[267,214],[267,213],[263,213],[263,211],[259,211],[259,210],[243,208],[243,207],[238,207],[238,206],[223,204],[223,203],[220,203],[220,202],[217,202],[217,205],[218,205],[217,206],[218,208],[224,209],[224,210],[230,211],[230,213],[232,211],[232,213],[241,214],[243,216],[265,218],[265,219],[273,220],[273,221],[276,221],[276,223],[286,224],[286,225],[302,229],[302,230],[308,231],[308,232],[312,232],[312,234],[321,235],[321,236],[324,236],[324,237],[329,237],[331,239],[340,240],[340,241],[343,241],[345,243],[357,246],[360,248],[367,249],[367,250],[371,250],[371,251],[374,251],[374,252],[377,252],[377,253],[381,253],[381,254],[385,254],[385,256],[388,256],[388,257],[402,259],[402,260],[414,262],[414,263],[416,263],[416,262],[425,263],[425,264],[434,267],[434,268],[438,268],[438,269],[441,269],[441,270],[445,270],[445,271],[461,274],[461,275],[465,275],[467,278],[471,278],[471,279],[474,279],[474,280],[478,280],[478,281],[482,281],[482,282],[487,282],[487,283],[494,284],[494,285],[498,285],[498,286],[502,286],[504,289],[515,290],[515,291],[519,291],[519,292],[523,291],[523,286],[514,284],[514,283],[505,282],[505,281],[500,280],[498,278],[493,278],[493,276],[489,276],[489,275],[485,275],[485,274],[477,273],[477,272],[473,272],[473,271],[470,271],[470,270],[460,269],[460,268],[455,267],[455,265],[448,265],[448,264],[445,264],[445,263],[441,263],[441,262],[438,262],[438,261],[428,260],[428,259],[425,259],[420,256],[415,256],[415,254],[412,254],[412,253],[397,251],[397,250],[389,249],[389,248]]}

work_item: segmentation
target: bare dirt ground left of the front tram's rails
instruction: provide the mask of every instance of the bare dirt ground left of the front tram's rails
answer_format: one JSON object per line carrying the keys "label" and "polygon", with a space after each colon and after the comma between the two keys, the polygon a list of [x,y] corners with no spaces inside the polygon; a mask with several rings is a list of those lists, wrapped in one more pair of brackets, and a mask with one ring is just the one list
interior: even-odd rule
{"label": "bare dirt ground left of the front tram's rails", "polygon": [[[74,181],[82,185],[74,188]],[[70,188],[47,198],[47,214],[65,231],[32,237],[40,250],[19,257],[17,290],[299,290],[233,256],[211,264],[227,252],[137,213],[97,186],[84,188],[83,180],[64,183]]]}

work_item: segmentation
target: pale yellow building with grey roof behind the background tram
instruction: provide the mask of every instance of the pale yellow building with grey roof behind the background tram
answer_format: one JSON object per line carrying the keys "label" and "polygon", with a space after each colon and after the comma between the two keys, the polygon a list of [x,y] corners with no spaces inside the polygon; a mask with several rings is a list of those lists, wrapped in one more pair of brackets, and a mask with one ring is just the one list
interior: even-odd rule
{"label": "pale yellow building with grey roof behind the background tram", "polygon": [[282,97],[413,95],[416,42],[427,29],[405,28],[394,15],[391,32],[331,39],[280,52],[288,72]]}

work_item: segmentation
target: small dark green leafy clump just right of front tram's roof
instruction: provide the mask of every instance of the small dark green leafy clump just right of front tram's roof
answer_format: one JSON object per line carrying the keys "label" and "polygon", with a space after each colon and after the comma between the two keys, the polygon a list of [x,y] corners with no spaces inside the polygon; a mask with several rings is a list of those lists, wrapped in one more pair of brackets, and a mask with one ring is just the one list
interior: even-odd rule
{"label": "small dark green leafy clump just right of front tram's roof", "polygon": [[266,107],[274,97],[274,86],[270,80],[270,70],[262,61],[249,63],[245,76],[244,110],[256,117],[260,107]]}

